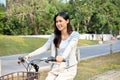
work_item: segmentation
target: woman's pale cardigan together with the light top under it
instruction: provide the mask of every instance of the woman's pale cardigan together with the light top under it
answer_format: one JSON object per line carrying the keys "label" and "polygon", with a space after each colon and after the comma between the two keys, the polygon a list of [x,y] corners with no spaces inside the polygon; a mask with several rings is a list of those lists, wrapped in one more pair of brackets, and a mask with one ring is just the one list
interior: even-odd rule
{"label": "woman's pale cardigan together with the light top under it", "polygon": [[[77,64],[76,60],[76,49],[77,49],[77,43],[79,40],[79,33],[76,31],[73,31],[70,36],[64,40],[61,41],[59,49],[58,49],[58,55],[61,55],[64,59],[69,59],[69,65],[74,65]],[[51,48],[51,56],[55,56],[55,46],[53,43],[55,35],[51,34],[50,38],[48,41],[40,48],[37,50],[31,52],[29,55],[30,56],[35,56],[41,53],[46,52],[49,48]]]}

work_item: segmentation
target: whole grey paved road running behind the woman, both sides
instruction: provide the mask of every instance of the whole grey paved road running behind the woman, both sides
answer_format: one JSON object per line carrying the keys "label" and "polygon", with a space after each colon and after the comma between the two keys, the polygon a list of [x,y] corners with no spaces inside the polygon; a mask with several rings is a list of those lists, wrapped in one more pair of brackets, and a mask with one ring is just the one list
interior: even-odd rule
{"label": "whole grey paved road running behind the woman, both sides", "polygon": [[[111,46],[112,44],[112,46]],[[92,46],[82,46],[79,47],[80,49],[80,58],[81,60],[87,59],[87,58],[92,58],[100,55],[106,55],[111,52],[120,52],[120,41],[115,41],[107,44],[98,44],[98,45],[92,45]],[[34,58],[42,58],[42,57],[47,57],[50,56],[50,52],[46,52],[46,54],[41,54],[38,55]],[[18,65],[18,57],[23,56],[25,54],[18,54],[18,55],[13,55],[13,56],[4,56],[0,57],[1,60],[1,69],[2,69],[2,75],[11,73],[11,72],[16,72],[16,71],[23,71],[25,68],[23,65]],[[47,64],[45,64],[47,65]],[[42,66],[42,65],[40,65]]]}

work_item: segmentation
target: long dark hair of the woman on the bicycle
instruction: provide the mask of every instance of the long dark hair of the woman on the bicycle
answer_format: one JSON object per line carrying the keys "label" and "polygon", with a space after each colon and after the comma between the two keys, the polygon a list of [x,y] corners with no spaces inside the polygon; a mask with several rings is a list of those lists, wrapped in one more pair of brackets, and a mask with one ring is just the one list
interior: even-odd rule
{"label": "long dark hair of the woman on the bicycle", "polygon": [[54,44],[55,47],[58,48],[61,42],[61,31],[58,30],[58,28],[56,27],[56,17],[57,16],[61,16],[63,17],[65,20],[69,20],[69,23],[67,24],[67,33],[70,35],[73,31],[73,28],[70,24],[70,18],[67,12],[60,12],[58,14],[55,15],[54,17],[54,34],[55,34],[55,38],[54,38]]}

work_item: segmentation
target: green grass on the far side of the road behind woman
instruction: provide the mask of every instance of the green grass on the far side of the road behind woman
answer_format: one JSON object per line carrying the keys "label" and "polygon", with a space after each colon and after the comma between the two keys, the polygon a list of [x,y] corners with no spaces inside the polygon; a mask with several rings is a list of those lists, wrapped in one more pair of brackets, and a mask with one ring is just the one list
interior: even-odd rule
{"label": "green grass on the far side of the road behind woman", "polygon": [[[47,39],[0,35],[0,56],[29,53],[41,47]],[[97,44],[97,41],[79,40],[78,46]]]}

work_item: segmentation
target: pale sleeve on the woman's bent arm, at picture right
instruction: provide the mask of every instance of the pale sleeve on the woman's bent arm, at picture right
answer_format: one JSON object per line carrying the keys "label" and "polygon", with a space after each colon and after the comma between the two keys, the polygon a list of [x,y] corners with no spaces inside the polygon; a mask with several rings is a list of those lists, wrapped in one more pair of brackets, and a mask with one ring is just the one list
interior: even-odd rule
{"label": "pale sleeve on the woman's bent arm, at picture right", "polygon": [[66,47],[65,51],[63,52],[63,58],[67,58],[68,55],[71,53],[71,50],[73,48],[75,48],[78,44],[78,40],[79,40],[79,33],[75,32],[72,36],[71,36],[71,40],[69,42],[69,45]]}

